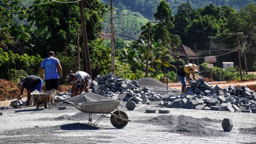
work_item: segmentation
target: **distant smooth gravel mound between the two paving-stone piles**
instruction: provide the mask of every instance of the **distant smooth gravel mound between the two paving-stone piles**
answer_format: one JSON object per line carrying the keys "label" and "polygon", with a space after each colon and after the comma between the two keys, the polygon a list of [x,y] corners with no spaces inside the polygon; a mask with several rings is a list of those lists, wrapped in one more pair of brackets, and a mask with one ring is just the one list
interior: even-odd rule
{"label": "distant smooth gravel mound between the two paving-stone piles", "polygon": [[138,79],[138,84],[142,87],[166,87],[164,83],[154,78]]}

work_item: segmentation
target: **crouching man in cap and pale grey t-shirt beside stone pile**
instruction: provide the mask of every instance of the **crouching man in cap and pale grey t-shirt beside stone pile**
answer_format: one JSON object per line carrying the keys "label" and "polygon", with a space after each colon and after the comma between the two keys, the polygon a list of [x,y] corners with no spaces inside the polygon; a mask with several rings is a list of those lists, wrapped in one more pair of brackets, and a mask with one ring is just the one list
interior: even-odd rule
{"label": "crouching man in cap and pale grey t-shirt beside stone pile", "polygon": [[91,85],[91,76],[84,71],[78,71],[69,75],[68,82],[71,82],[71,97],[82,94],[84,90],[89,92]]}

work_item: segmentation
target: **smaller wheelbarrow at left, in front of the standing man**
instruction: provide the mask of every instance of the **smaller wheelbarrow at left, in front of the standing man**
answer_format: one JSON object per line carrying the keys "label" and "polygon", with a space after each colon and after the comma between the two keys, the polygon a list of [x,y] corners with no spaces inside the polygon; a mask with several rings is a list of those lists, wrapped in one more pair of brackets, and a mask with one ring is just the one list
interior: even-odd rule
{"label": "smaller wheelbarrow at left, in front of the standing man", "polygon": [[50,109],[50,102],[54,99],[55,94],[56,90],[44,93],[34,90],[30,95],[34,98],[34,101],[36,101],[36,109],[38,110],[42,103],[44,103],[44,108],[47,108],[48,104],[48,108]]}

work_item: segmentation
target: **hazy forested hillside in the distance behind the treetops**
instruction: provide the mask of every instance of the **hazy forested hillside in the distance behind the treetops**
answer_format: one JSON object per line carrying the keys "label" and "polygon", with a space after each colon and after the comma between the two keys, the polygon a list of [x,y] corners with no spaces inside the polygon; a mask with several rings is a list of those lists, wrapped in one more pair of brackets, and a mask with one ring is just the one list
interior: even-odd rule
{"label": "hazy forested hillside in the distance behind the treetops", "polygon": [[[115,33],[131,40],[137,39],[142,32],[141,26],[149,20],[154,20],[154,13],[160,0],[113,0]],[[173,14],[177,13],[177,7],[187,0],[165,0],[169,3]],[[110,5],[110,0],[101,0],[102,3]],[[213,4],[215,6],[231,6],[236,11],[243,6],[256,2],[256,0],[190,0],[194,9]],[[110,12],[109,12],[110,13]],[[126,13],[125,16],[122,16]],[[110,17],[110,14],[108,15]],[[110,33],[110,20],[103,21],[103,31]]]}

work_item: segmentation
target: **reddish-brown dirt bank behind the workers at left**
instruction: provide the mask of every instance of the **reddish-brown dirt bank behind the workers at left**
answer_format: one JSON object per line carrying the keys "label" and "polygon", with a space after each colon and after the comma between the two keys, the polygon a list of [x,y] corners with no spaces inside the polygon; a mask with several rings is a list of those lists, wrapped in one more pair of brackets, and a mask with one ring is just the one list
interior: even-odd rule
{"label": "reddish-brown dirt bank behind the workers at left", "polygon": [[[60,85],[57,92],[66,92],[71,89],[71,86]],[[43,84],[42,92],[45,91],[45,85]],[[16,99],[20,95],[20,91],[17,89],[17,85],[13,81],[0,79],[0,101]],[[27,90],[25,89],[22,97],[27,97]]]}

